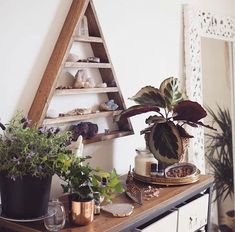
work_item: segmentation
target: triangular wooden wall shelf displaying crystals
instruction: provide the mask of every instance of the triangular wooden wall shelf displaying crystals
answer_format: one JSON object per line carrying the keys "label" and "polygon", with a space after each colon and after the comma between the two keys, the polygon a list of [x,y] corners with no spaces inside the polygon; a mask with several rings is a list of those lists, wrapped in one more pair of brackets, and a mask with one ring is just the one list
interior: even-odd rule
{"label": "triangular wooden wall shelf displaying crystals", "polygon": [[[78,36],[77,29],[83,16],[86,16],[89,35]],[[90,44],[95,57],[100,58],[100,63],[88,62],[66,62],[74,43]],[[58,81],[64,69],[97,69],[103,82],[114,80],[115,86],[106,88],[88,88],[88,89],[57,89]],[[55,119],[46,118],[49,104],[54,96],[63,95],[80,95],[80,94],[106,94],[108,99],[114,99],[119,105],[116,111],[105,111],[92,113],[88,115],[77,115],[70,117],[58,117]],[[66,96],[65,96],[66,97]],[[41,83],[35,95],[34,101],[30,108],[28,117],[32,122],[38,125],[42,124],[63,124],[78,123],[80,121],[89,121],[89,119],[100,117],[113,117],[120,110],[125,109],[125,103],[117,82],[111,59],[109,57],[107,46],[97,19],[92,0],[73,0],[65,23],[55,44],[54,50],[42,77]],[[114,122],[115,128],[102,133],[100,131],[94,138],[85,140],[84,143],[92,143],[113,139],[117,137],[133,134],[130,121],[124,119],[118,123]]]}

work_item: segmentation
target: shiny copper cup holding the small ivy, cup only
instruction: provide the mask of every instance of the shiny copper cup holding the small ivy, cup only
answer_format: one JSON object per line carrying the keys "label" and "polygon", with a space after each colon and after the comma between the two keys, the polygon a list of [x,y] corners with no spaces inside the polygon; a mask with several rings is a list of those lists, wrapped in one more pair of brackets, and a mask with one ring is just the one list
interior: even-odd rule
{"label": "shiny copper cup holding the small ivy, cup only", "polygon": [[71,202],[70,220],[76,225],[87,225],[94,219],[94,200]]}

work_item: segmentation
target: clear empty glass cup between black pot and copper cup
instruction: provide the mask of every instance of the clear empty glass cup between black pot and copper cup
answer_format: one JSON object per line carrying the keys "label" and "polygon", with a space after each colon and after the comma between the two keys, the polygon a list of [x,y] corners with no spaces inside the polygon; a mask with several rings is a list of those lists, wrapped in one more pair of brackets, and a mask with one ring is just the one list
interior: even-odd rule
{"label": "clear empty glass cup between black pot and copper cup", "polygon": [[48,204],[48,211],[50,211],[51,216],[49,215],[44,219],[44,226],[49,231],[59,231],[61,230],[66,221],[65,209],[58,199],[53,199]]}

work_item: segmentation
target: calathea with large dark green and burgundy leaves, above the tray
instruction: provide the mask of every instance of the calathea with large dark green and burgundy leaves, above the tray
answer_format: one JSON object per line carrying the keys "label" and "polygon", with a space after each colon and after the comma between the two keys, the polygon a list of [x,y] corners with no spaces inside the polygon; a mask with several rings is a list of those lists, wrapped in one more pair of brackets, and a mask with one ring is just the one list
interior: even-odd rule
{"label": "calathea with large dark green and burgundy leaves, above the tray", "polygon": [[138,105],[123,110],[116,120],[138,114],[155,112],[145,122],[148,127],[140,133],[145,134],[146,143],[155,158],[165,165],[179,162],[183,152],[183,138],[192,138],[184,129],[204,126],[200,120],[207,113],[203,107],[190,100],[179,90],[177,78],[165,79],[160,88],[145,86],[130,98]]}

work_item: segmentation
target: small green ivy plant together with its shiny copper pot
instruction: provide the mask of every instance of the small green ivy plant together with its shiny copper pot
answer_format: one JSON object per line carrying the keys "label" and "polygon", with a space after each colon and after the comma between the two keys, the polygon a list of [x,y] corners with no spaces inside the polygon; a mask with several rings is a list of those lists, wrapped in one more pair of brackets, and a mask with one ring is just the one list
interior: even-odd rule
{"label": "small green ivy plant together with its shiny copper pot", "polygon": [[[123,188],[115,170],[104,172],[101,169],[92,169],[85,161],[89,156],[76,157],[66,172],[61,173],[64,192],[68,192],[69,218],[72,224],[87,225],[93,221],[94,199],[96,193],[111,201],[115,193],[122,192]],[[102,178],[106,178],[102,185]]]}

